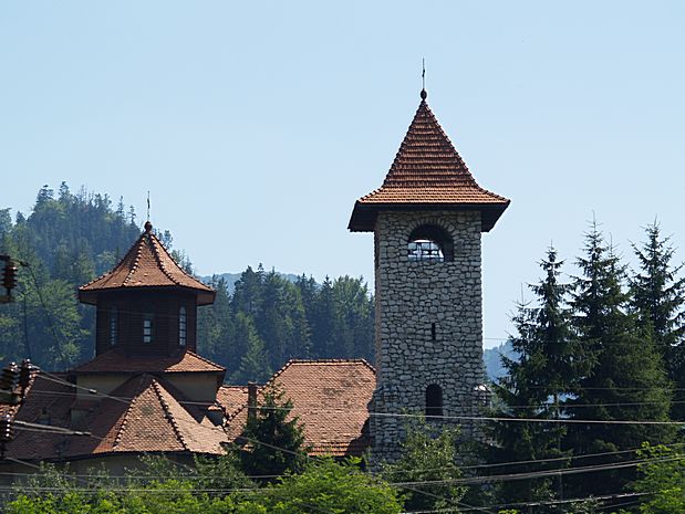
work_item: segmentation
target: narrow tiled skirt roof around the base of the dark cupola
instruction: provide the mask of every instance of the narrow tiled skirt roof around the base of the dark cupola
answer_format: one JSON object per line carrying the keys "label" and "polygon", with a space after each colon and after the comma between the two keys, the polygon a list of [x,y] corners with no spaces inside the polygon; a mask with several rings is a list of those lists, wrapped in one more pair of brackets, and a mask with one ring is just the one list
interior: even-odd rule
{"label": "narrow tiled skirt roof around the base of the dark cupola", "polygon": [[226,368],[205,357],[186,350],[175,357],[157,355],[136,355],[128,357],[125,354],[111,349],[100,354],[93,360],[73,369],[75,373],[188,373],[216,371],[225,373]]}

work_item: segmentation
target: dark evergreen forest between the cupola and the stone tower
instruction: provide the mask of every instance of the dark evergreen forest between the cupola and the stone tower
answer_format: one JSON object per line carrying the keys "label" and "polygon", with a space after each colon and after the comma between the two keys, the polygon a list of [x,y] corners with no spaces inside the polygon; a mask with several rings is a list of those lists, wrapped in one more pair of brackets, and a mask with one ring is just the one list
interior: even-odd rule
{"label": "dark evergreen forest between the cupola and the stone tower", "polygon": [[263,381],[292,358],[373,360],[373,298],[362,279],[312,277],[293,283],[273,270],[248,268],[227,292],[199,310],[200,352],[224,365],[233,384]]}

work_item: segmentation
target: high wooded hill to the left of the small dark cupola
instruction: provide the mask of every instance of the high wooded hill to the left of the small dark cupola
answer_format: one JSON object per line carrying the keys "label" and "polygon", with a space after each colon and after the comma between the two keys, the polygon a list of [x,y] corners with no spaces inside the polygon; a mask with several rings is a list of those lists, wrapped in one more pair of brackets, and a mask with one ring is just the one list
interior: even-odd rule
{"label": "high wooded hill to the left of the small dark cupola", "polygon": [[76,287],[108,270],[137,234],[121,201],[115,211],[106,195],[73,195],[65,183],[58,198],[44,186],[31,216],[18,213],[14,224],[0,210],[0,253],[25,263],[15,302],[0,310],[0,354],[46,369],[90,358],[95,316],[79,305]]}

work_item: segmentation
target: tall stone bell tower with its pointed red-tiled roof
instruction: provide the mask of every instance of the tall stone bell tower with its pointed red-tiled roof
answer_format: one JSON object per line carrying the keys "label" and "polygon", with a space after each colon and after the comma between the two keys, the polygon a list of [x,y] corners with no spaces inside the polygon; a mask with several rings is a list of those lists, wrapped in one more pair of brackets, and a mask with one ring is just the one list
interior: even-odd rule
{"label": "tall stone bell tower with its pointed red-tiled roof", "polygon": [[349,225],[375,241],[374,460],[398,455],[403,418],[393,415],[422,412],[436,424],[478,415],[480,233],[509,204],[476,183],[421,97],[383,186],[356,201]]}

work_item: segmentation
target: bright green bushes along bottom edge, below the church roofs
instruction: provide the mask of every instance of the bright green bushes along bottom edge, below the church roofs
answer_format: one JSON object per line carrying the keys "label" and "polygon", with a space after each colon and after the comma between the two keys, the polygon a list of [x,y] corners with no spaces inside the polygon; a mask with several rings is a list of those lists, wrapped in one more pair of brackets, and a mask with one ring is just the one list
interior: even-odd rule
{"label": "bright green bushes along bottom edge, below the church roofs", "polygon": [[[301,474],[288,474],[258,490],[235,458],[196,461],[181,468],[165,458],[143,459],[146,474],[115,480],[71,475],[45,466],[18,491],[8,514],[398,514],[402,504],[388,484],[363,473],[359,460],[325,459]],[[90,472],[89,472],[90,474]]]}

